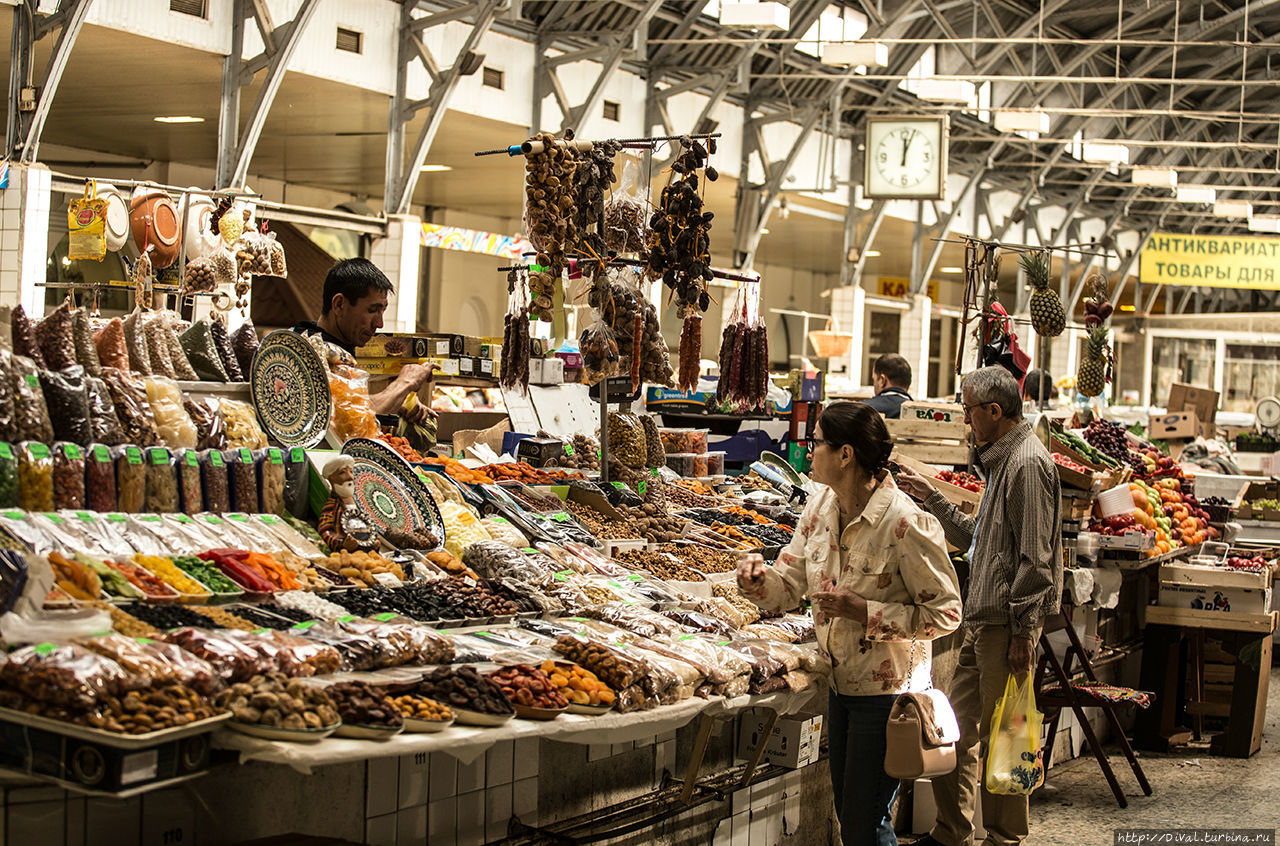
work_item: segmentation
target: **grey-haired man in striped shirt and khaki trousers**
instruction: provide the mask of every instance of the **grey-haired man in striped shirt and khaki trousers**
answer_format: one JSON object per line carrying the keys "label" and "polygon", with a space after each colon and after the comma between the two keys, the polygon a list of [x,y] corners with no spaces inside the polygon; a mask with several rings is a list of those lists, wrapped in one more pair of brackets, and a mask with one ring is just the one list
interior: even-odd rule
{"label": "grey-haired man in striped shirt and khaki trousers", "polygon": [[1061,489],[1048,452],[1023,420],[1018,381],[1004,367],[969,374],[961,389],[964,419],[978,442],[987,490],[978,516],[948,503],[927,479],[901,468],[899,486],[922,499],[947,540],[969,550],[964,640],[951,682],[960,722],[956,768],[933,779],[938,820],[924,846],[970,846],[974,802],[982,788],[984,843],[1021,843],[1029,831],[1027,796],[1001,796],[980,787],[979,742],[1012,674],[1032,669],[1044,618],[1062,594]]}

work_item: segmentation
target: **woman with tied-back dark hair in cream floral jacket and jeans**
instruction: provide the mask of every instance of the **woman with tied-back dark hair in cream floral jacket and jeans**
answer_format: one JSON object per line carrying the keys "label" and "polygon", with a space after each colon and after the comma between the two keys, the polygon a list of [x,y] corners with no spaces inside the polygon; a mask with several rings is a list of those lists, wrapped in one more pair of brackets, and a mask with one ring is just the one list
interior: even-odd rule
{"label": "woman with tied-back dark hair in cream floral jacket and jeans", "polygon": [[737,568],[764,609],[813,603],[818,645],[832,667],[827,722],[831,783],[845,846],[893,846],[897,779],[884,773],[884,727],[899,694],[929,687],[931,641],[960,626],[960,593],[942,526],[887,471],[888,431],[860,402],[818,417],[814,481],[791,543],[772,567]]}

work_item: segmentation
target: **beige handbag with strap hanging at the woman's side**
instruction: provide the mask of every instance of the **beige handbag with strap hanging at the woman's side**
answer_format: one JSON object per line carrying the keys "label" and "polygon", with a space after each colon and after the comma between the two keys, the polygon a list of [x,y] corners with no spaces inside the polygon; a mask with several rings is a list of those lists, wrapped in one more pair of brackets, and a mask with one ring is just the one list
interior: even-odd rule
{"label": "beige handbag with strap hanging at the woman's side", "polygon": [[[913,659],[918,646],[911,648]],[[908,671],[908,678],[911,674]],[[891,778],[945,776],[956,768],[959,740],[960,723],[946,694],[936,687],[900,694],[884,726],[884,773]]]}

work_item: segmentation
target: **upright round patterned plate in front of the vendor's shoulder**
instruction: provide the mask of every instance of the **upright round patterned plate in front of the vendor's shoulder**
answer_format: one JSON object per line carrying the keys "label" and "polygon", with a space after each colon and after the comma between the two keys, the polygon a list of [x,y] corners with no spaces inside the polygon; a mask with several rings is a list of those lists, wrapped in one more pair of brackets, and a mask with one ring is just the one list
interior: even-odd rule
{"label": "upright round patterned plate in front of the vendor's shoulder", "polygon": [[250,392],[262,429],[282,447],[311,448],[329,430],[329,379],[315,348],[276,329],[262,338],[250,370]]}

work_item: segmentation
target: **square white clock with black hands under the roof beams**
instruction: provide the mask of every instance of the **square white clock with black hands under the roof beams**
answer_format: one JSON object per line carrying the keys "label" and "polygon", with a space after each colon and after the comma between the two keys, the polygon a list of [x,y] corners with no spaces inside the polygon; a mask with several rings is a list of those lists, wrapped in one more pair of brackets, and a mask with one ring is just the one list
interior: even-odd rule
{"label": "square white clock with black hands under the roof beams", "polygon": [[946,118],[868,118],[864,196],[941,200],[946,141]]}

